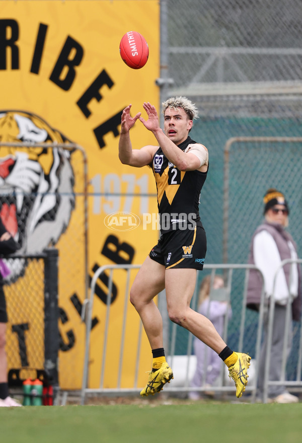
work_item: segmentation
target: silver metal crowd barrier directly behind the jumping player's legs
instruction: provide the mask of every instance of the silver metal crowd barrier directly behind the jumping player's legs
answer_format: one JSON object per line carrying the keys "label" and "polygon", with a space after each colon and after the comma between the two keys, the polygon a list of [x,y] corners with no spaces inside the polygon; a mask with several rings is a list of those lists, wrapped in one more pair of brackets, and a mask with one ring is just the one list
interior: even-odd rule
{"label": "silver metal crowd barrier directly behind the jumping player's legs", "polygon": [[[140,343],[141,343],[141,334],[142,334],[142,324],[140,323],[139,328],[139,337],[138,337],[138,345],[137,345],[137,351],[136,351],[136,364],[135,364],[135,376],[134,376],[134,383],[132,386],[129,386],[127,388],[121,388],[121,371],[122,371],[122,362],[123,362],[123,350],[124,350],[124,334],[125,334],[125,324],[126,324],[126,315],[127,315],[127,305],[128,305],[128,297],[129,297],[129,290],[130,290],[130,271],[132,269],[139,269],[140,265],[106,265],[100,267],[94,274],[91,282],[91,289],[90,289],[90,297],[85,301],[85,304],[83,306],[82,311],[82,318],[86,322],[86,348],[85,348],[85,357],[84,357],[84,370],[83,370],[83,385],[82,385],[82,391],[81,391],[81,404],[85,404],[85,399],[87,394],[116,394],[116,395],[125,395],[125,394],[134,394],[139,393],[140,387],[137,386],[137,374],[138,374],[138,363],[140,358]],[[112,293],[112,286],[113,286],[113,272],[117,269],[124,269],[127,272],[127,280],[125,285],[125,293],[124,293],[124,313],[123,313],[123,320],[122,320],[122,337],[121,337],[121,345],[120,345],[120,354],[119,354],[119,367],[118,367],[118,375],[117,375],[117,381],[116,381],[116,387],[115,388],[105,388],[104,387],[104,374],[105,374],[105,362],[106,362],[106,350],[107,350],[107,339],[108,339],[108,328],[109,328],[109,318],[110,318],[110,305],[111,305],[111,293]],[[238,348],[237,351],[242,351],[243,349],[243,337],[245,333],[245,321],[246,321],[246,296],[247,296],[247,282],[249,277],[249,271],[251,269],[256,269],[259,271],[256,266],[248,265],[248,264],[217,264],[217,265],[204,265],[204,270],[211,271],[212,277],[214,277],[215,272],[217,270],[222,270],[224,272],[224,279],[226,281],[226,292],[228,293],[229,300],[231,300],[231,290],[232,290],[232,280],[233,280],[233,273],[235,270],[244,271],[244,289],[243,289],[243,295],[242,295],[242,303],[241,303],[241,315],[240,319],[238,319],[238,325],[239,325],[239,342],[238,342]],[[90,349],[90,335],[91,335],[91,325],[92,325],[92,311],[93,311],[93,304],[94,304],[94,294],[95,294],[95,286],[98,278],[101,276],[101,274],[109,270],[109,278],[108,278],[108,292],[107,292],[107,303],[106,303],[106,319],[105,319],[105,326],[104,326],[104,338],[103,338],[103,353],[102,353],[102,364],[101,364],[101,374],[100,374],[100,384],[97,388],[88,388],[88,379],[89,379],[89,349]],[[260,272],[260,271],[259,271]],[[261,274],[261,272],[260,272]],[[262,275],[262,274],[261,274]],[[197,290],[197,289],[196,289]],[[192,303],[196,301],[196,290],[192,299]],[[251,394],[252,401],[255,400],[256,396],[256,389],[257,389],[257,374],[258,374],[258,368],[257,368],[257,360],[258,355],[260,352],[260,345],[261,345],[261,334],[262,334],[262,322],[263,322],[263,312],[264,312],[264,285],[262,288],[262,297],[261,297],[261,304],[260,304],[260,310],[259,310],[259,322],[258,322],[258,328],[257,328],[257,337],[256,337],[256,350],[255,350],[255,377],[254,380],[249,383],[247,386],[246,392]],[[162,312],[162,315],[165,316],[165,313]],[[172,327],[172,334],[171,334],[171,346],[170,346],[170,364],[172,366],[173,359],[175,358],[175,340],[176,340],[176,328],[177,325],[173,324]],[[224,334],[223,338],[226,339],[226,336],[228,334],[228,322],[225,321],[224,325]],[[165,331],[164,331],[165,335]],[[253,337],[254,339],[255,337]],[[164,337],[165,339],[165,337]],[[189,365],[189,359],[192,355],[192,339],[193,335],[189,334],[189,340],[187,345],[187,368]],[[221,361],[221,373],[219,377],[219,382],[217,386],[213,387],[213,389],[216,392],[229,392],[234,393],[235,387],[234,383],[230,385],[225,384],[225,380],[223,377],[223,369],[224,365]],[[172,386],[169,385],[169,387],[166,388],[167,393],[182,393],[182,392],[190,392],[190,391],[204,391],[205,386],[201,386],[200,388],[191,388],[189,386],[189,371],[186,371],[186,379],[184,382],[182,382],[182,386]]]}

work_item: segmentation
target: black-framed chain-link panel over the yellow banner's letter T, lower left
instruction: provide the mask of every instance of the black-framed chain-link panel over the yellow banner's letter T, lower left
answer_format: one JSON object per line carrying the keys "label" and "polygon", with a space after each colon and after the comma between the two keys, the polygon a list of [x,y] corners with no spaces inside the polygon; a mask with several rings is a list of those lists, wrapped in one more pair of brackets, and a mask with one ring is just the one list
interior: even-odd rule
{"label": "black-framed chain-link panel over the yellow banner's letter T, lower left", "polygon": [[[58,251],[47,248],[36,255],[6,258],[8,269],[24,266],[14,284],[5,284],[7,356],[10,387],[40,378],[58,388]],[[21,391],[22,392],[22,391]]]}

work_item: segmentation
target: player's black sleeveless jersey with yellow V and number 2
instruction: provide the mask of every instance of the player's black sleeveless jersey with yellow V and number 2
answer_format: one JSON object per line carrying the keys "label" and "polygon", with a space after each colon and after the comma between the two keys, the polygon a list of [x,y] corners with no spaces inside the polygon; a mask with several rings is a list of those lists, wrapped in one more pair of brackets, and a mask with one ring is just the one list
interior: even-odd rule
{"label": "player's black sleeveless jersey with yellow V and number 2", "polygon": [[[189,144],[196,143],[188,137],[178,147],[185,151]],[[202,226],[199,216],[200,191],[207,172],[180,171],[170,163],[161,147],[153,158],[153,173],[157,185],[158,208],[161,232],[184,229],[179,220],[194,218],[196,226]]]}

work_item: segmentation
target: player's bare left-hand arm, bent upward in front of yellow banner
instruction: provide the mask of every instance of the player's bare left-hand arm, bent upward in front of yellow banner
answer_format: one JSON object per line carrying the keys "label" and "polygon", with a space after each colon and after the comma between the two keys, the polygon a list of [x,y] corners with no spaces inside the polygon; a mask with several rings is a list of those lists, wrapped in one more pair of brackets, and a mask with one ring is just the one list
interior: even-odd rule
{"label": "player's bare left-hand arm, bent upward in front of yellow banner", "polygon": [[141,168],[152,163],[153,156],[158,150],[158,146],[147,145],[139,150],[132,149],[130,140],[130,129],[140,116],[138,112],[134,117],[130,116],[131,105],[127,106],[122,113],[121,133],[118,143],[119,159],[122,164]]}

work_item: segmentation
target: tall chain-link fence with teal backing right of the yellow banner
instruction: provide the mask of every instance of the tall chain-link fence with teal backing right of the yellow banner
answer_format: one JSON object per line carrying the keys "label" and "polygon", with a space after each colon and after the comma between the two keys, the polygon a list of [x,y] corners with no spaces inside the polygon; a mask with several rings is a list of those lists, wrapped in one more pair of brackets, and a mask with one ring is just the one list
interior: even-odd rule
{"label": "tall chain-link fence with teal backing right of the yellow banner", "polygon": [[[289,200],[289,231],[301,255],[300,143],[234,144],[228,219],[223,220],[228,140],[302,136],[300,6],[298,0],[162,2],[161,99],[184,95],[196,104],[199,119],[190,135],[209,150],[209,174],[200,204],[208,264],[223,263],[226,255],[229,263],[247,263],[253,231],[262,219],[262,198],[270,187],[277,187]],[[226,254],[225,223],[229,227]],[[199,280],[205,274],[199,273]],[[233,318],[243,281],[243,276],[233,279]],[[253,329],[255,315],[248,312],[248,328]],[[298,334],[298,325],[296,329]],[[231,346],[237,333],[238,325],[231,321]],[[176,352],[185,352],[187,339],[186,331],[179,328]]]}

